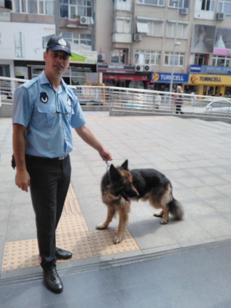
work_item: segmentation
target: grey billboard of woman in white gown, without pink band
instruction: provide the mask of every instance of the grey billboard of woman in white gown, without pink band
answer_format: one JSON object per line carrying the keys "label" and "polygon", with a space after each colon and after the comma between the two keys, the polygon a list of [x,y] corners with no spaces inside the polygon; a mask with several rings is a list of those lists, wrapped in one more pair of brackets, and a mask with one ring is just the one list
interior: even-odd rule
{"label": "grey billboard of woman in white gown, without pink band", "polygon": [[215,30],[215,26],[194,24],[191,52],[213,53]]}

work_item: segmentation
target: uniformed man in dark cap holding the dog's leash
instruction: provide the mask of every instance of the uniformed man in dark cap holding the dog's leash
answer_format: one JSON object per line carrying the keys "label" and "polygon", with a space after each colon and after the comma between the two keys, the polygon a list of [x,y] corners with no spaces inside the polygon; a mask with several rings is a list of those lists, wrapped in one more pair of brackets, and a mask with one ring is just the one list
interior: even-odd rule
{"label": "uniformed man in dark cap holding the dog's leash", "polygon": [[75,93],[62,79],[70,55],[69,42],[53,36],[43,54],[45,71],[16,89],[12,111],[15,183],[26,192],[30,187],[41,266],[48,288],[57,293],[63,290],[63,285],[56,261],[71,258],[71,252],[56,247],[55,239],[71,177],[70,127],[103,160],[112,159],[86,126]]}

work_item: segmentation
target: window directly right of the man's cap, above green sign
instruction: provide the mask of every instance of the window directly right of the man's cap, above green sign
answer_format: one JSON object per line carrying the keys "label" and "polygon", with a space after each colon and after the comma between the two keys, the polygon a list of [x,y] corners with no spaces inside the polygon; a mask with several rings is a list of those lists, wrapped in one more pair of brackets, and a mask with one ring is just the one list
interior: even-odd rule
{"label": "window directly right of the man's cap, above green sign", "polygon": [[71,50],[92,50],[91,34],[63,32],[62,35],[70,42]]}

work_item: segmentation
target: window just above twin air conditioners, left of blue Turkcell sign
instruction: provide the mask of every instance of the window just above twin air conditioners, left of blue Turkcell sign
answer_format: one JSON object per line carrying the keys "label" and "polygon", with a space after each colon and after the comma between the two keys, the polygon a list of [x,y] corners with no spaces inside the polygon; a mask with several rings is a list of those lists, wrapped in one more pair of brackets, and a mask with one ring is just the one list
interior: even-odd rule
{"label": "window just above twin air conditioners, left of blue Turkcell sign", "polygon": [[134,64],[160,65],[160,51],[135,50]]}

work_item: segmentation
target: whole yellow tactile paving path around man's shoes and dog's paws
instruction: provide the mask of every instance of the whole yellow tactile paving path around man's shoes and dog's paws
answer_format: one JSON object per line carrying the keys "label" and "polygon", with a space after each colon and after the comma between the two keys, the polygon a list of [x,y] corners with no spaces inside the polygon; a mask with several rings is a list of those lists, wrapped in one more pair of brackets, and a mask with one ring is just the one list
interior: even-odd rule
{"label": "whole yellow tactile paving path around man's shoes and dog's paws", "polygon": [[[115,232],[116,229],[92,232],[88,230],[75,191],[70,184],[56,230],[57,247],[72,252],[72,258],[68,261],[140,249],[128,230],[125,230],[122,242],[115,245]],[[37,239],[5,243],[2,271],[38,266],[40,262]]]}

